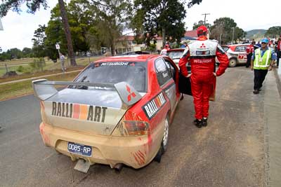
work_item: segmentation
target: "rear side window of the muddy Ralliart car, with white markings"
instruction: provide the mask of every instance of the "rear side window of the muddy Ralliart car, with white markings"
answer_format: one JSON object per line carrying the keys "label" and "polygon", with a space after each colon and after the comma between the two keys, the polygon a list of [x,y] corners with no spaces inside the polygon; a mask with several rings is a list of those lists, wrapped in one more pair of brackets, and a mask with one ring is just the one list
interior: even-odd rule
{"label": "rear side window of the muddy Ralliart car, with white markings", "polygon": [[159,85],[164,85],[167,81],[171,79],[171,73],[169,69],[166,67],[164,60],[158,59],[155,62],[155,69],[157,74],[157,79]]}

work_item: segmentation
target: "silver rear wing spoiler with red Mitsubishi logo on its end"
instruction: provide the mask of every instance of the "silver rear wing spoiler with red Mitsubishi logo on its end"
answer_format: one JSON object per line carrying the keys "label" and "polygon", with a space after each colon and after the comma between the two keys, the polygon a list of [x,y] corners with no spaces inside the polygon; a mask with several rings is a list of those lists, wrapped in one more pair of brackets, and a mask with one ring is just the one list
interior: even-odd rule
{"label": "silver rear wing spoiler with red Mitsubishi logo on its end", "polygon": [[142,96],[131,85],[126,82],[120,83],[87,83],[87,82],[70,82],[70,81],[48,81],[46,79],[39,79],[32,81],[32,88],[34,95],[40,100],[44,101],[58,93],[58,90],[53,85],[80,85],[100,88],[113,88],[118,92],[123,104],[131,106],[138,102]]}

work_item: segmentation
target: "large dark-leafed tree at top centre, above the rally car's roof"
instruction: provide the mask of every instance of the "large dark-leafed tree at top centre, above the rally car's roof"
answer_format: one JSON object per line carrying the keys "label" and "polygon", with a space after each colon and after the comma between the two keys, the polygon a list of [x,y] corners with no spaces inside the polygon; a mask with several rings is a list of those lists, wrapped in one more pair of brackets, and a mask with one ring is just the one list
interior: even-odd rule
{"label": "large dark-leafed tree at top centre, above the rally car's roof", "polygon": [[[188,1],[188,8],[200,4],[202,0]],[[145,37],[147,46],[155,35],[163,38],[163,46],[167,38],[180,41],[185,32],[185,1],[182,0],[135,0],[135,13],[131,27],[137,36]]]}

